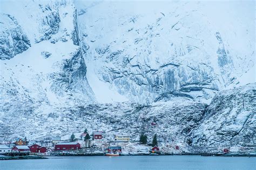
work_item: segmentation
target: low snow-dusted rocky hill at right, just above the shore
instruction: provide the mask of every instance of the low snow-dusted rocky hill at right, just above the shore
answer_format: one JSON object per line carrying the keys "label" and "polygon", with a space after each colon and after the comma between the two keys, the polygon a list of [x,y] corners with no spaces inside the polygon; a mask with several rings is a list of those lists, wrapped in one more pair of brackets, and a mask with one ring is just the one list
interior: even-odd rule
{"label": "low snow-dusted rocky hill at right, just above the shore", "polygon": [[256,84],[219,92],[192,132],[193,145],[249,145],[256,142]]}

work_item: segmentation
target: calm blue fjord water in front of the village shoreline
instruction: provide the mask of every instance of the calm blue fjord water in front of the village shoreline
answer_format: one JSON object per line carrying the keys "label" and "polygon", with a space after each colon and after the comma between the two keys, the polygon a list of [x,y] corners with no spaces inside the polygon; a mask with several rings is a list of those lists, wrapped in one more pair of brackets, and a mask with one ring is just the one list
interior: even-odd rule
{"label": "calm blue fjord water in front of the village shoreline", "polygon": [[49,157],[0,161],[0,169],[256,169],[256,157]]}

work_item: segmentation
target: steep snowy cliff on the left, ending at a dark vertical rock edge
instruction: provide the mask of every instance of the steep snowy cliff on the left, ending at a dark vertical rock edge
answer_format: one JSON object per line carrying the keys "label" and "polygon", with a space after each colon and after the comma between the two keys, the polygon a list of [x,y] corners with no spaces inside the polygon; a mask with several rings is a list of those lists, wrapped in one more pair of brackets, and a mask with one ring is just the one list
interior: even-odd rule
{"label": "steep snowy cliff on the left, ending at a dark vertical rock edge", "polygon": [[2,106],[94,101],[72,1],[4,2],[2,11]]}

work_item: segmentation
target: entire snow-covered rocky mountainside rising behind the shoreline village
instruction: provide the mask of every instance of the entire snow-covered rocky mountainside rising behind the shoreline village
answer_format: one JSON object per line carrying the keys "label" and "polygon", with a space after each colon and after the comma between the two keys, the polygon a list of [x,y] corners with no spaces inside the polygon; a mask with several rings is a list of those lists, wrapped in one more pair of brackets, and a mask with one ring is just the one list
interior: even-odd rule
{"label": "entire snow-covered rocky mountainside rising behind the shoreline village", "polygon": [[253,6],[1,2],[0,142],[67,135],[69,122],[109,138],[255,143]]}

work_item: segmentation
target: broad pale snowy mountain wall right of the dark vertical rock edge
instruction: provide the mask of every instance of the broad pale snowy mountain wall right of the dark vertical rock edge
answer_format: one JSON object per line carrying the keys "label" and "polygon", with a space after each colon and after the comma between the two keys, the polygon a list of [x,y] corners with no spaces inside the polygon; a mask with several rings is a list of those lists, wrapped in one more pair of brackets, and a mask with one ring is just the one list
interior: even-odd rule
{"label": "broad pale snowy mountain wall right of the dark vertical rock edge", "polygon": [[75,1],[89,83],[142,104],[210,103],[219,90],[253,83],[253,4]]}

